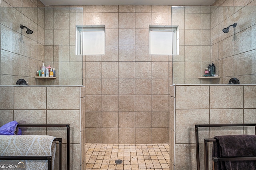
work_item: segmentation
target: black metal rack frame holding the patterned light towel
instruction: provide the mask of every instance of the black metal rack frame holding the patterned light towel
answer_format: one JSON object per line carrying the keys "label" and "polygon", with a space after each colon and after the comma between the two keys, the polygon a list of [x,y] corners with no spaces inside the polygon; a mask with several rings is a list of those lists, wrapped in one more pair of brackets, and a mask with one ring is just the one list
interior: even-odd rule
{"label": "black metal rack frame holding the patterned light towel", "polygon": [[[27,124],[18,127],[67,127],[67,170],[70,169],[70,125],[69,124]],[[62,170],[62,138],[55,138],[59,142],[59,170]],[[48,160],[48,170],[52,170],[52,156],[0,156],[0,160]]]}

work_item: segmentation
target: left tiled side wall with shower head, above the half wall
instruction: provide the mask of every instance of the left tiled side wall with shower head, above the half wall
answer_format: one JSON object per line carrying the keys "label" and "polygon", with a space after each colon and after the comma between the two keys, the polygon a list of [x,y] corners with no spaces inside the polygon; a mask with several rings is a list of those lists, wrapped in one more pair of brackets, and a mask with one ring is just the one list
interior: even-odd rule
{"label": "left tiled side wall with shower head, above the half wall", "polygon": [[[10,8],[15,7],[15,8]],[[33,7],[33,8],[31,8]],[[23,78],[30,85],[44,61],[44,4],[39,0],[2,0],[0,8],[1,60],[0,85],[15,85]],[[27,34],[26,28],[33,33]]]}

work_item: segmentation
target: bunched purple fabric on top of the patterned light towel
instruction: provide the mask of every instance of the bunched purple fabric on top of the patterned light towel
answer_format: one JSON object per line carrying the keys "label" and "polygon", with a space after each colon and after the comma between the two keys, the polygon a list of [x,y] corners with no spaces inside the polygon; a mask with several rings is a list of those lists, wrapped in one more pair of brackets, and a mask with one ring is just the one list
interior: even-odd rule
{"label": "bunched purple fabric on top of the patterned light towel", "polygon": [[17,127],[19,123],[11,121],[0,127],[0,135],[21,135],[21,129]]}

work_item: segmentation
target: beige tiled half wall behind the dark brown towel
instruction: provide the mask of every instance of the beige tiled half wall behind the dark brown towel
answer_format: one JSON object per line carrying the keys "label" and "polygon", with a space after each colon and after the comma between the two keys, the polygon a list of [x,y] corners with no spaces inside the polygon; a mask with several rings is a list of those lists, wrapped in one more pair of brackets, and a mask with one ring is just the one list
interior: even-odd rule
{"label": "beige tiled half wall behind the dark brown towel", "polygon": [[[255,123],[255,85],[176,85],[170,94],[170,167],[196,169],[195,124]],[[173,102],[175,100],[175,102]],[[185,104],[184,104],[185,103]],[[254,134],[252,128],[200,128],[200,168],[203,139],[217,135]],[[211,166],[211,163],[210,163]]]}

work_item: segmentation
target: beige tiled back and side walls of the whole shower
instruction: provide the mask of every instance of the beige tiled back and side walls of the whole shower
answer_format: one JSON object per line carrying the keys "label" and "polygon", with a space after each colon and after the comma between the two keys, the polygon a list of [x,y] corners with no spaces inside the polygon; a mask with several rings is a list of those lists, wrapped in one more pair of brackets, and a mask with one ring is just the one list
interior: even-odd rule
{"label": "beige tiled back and side walls of the whole shower", "polygon": [[[234,76],[256,83],[255,5],[44,8],[39,0],[2,0],[0,84],[84,85],[86,143],[169,143],[170,85],[227,84]],[[222,32],[234,22],[235,32]],[[105,55],[76,56],[75,25],[105,25]],[[179,55],[149,55],[148,25],[178,25]],[[212,62],[221,78],[198,79]],[[56,80],[34,78],[42,63],[56,69]]]}

